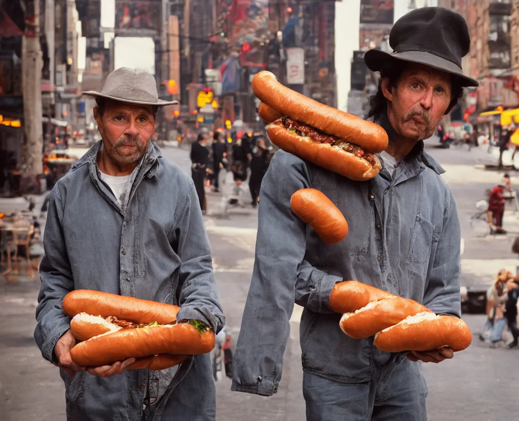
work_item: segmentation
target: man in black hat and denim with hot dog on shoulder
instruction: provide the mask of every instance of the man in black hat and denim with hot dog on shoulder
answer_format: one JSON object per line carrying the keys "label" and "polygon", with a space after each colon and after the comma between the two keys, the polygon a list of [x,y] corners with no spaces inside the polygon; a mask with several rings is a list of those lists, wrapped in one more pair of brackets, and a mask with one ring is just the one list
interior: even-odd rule
{"label": "man in black hat and denim with hot dog on shoulder", "polygon": [[[391,30],[391,54],[371,50],[380,72],[370,118],[389,136],[383,169],[352,181],[279,151],[263,179],[256,256],[235,353],[233,390],[274,394],[281,380],[294,301],[301,317],[303,394],[307,419],[421,421],[427,384],[420,362],[453,358],[451,349],[390,354],[373,338],[339,329],[330,293],[357,279],[416,300],[436,314],[460,317],[460,224],[442,167],[424,151],[440,119],[458,103],[469,31],[455,12],[427,7]],[[291,195],[316,188],[340,209],[349,234],[327,245],[293,214]],[[407,357],[407,358],[406,358]]]}

